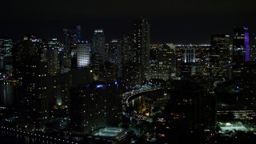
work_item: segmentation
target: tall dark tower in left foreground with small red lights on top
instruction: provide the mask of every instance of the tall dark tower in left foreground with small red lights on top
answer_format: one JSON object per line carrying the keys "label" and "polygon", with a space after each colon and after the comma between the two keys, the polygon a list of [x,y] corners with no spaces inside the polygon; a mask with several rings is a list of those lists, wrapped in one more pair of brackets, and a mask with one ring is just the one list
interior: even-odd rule
{"label": "tall dark tower in left foreground with small red lights on top", "polygon": [[49,114],[49,85],[47,63],[42,61],[42,42],[34,34],[14,46],[14,77],[18,81],[20,121],[41,128]]}

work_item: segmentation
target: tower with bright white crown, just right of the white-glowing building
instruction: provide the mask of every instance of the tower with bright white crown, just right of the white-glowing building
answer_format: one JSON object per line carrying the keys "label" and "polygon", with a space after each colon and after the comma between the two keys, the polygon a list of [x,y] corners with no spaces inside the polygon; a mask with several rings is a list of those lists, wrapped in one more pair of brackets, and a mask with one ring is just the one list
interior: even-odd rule
{"label": "tower with bright white crown, just right of the white-glowing building", "polygon": [[94,30],[94,36],[92,40],[91,54],[99,54],[102,58],[102,62],[105,62],[105,35],[102,29]]}

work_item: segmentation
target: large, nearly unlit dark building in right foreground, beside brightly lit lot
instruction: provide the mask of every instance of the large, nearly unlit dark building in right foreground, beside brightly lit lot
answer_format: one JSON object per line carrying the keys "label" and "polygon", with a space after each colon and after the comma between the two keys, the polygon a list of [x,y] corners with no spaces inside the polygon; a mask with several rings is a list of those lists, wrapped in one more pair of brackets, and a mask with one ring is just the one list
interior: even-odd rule
{"label": "large, nearly unlit dark building in right foreground, beside brightly lit lot", "polygon": [[172,143],[202,142],[204,130],[214,130],[216,98],[196,82],[179,81],[164,110]]}

